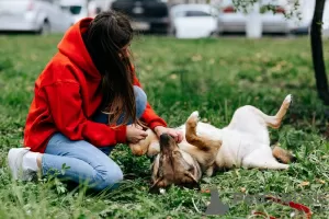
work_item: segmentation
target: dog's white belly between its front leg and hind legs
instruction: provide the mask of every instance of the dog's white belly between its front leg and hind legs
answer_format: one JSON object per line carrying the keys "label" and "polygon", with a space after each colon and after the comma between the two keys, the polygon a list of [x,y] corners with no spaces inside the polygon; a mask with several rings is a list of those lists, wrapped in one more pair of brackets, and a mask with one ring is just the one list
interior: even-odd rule
{"label": "dog's white belly between its front leg and hind legs", "polygon": [[223,145],[216,157],[219,169],[241,168],[243,158],[254,150],[268,147],[248,132],[223,129]]}

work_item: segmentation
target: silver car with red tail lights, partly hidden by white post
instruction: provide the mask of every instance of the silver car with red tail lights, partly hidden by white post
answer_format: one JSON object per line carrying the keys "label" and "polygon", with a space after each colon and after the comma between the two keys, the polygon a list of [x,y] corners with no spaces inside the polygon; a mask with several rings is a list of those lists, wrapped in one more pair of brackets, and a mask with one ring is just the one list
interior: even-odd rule
{"label": "silver car with red tail lights, partly hidden by white post", "polygon": [[[275,8],[273,11],[266,10],[266,4]],[[260,18],[262,20],[263,33],[283,33],[288,34],[288,21],[284,16],[285,8],[280,1],[261,1]],[[246,33],[246,23],[248,14],[235,9],[232,0],[223,0],[219,4],[220,15],[218,16],[219,33]]]}

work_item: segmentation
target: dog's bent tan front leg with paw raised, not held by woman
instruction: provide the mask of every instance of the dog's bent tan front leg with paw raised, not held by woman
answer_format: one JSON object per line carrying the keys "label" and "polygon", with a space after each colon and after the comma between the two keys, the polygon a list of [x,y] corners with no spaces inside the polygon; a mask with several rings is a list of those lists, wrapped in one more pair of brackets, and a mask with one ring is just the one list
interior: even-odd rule
{"label": "dog's bent tan front leg with paw raised, not held by woman", "polygon": [[222,146],[222,139],[211,138],[206,136],[196,135],[196,126],[198,122],[198,112],[193,112],[186,120],[186,141],[200,150],[209,151],[218,150]]}

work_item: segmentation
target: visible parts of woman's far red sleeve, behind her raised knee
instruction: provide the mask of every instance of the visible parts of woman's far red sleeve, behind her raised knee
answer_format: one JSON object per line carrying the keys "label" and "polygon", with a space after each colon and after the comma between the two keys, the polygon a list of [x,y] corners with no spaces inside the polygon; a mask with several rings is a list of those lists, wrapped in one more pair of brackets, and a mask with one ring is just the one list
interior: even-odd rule
{"label": "visible parts of woman's far red sleeve, behind her raised knee", "polygon": [[[134,84],[141,88],[140,82],[138,81],[136,74],[134,76]],[[157,126],[167,127],[167,123],[160,116],[156,114],[150,104],[147,102],[146,110],[141,115],[141,119],[147,124],[150,129],[155,129]]]}

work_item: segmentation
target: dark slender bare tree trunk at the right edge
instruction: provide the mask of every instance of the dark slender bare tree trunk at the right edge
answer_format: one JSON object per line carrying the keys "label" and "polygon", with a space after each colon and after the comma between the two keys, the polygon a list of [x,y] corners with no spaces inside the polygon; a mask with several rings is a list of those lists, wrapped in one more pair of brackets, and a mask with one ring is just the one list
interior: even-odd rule
{"label": "dark slender bare tree trunk at the right edge", "polygon": [[316,0],[315,11],[310,26],[310,45],[318,96],[324,101],[325,105],[329,105],[329,90],[324,61],[324,48],[321,36],[325,3],[326,0]]}

